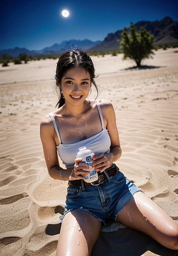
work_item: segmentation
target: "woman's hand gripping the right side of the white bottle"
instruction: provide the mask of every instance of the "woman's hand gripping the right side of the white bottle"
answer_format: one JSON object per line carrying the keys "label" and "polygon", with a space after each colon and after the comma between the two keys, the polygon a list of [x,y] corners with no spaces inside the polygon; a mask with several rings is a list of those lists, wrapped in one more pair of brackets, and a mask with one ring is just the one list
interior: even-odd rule
{"label": "woman's hand gripping the right side of the white bottle", "polygon": [[112,165],[113,153],[99,153],[94,155],[92,167],[98,172],[104,172]]}

